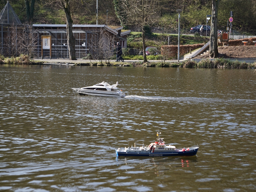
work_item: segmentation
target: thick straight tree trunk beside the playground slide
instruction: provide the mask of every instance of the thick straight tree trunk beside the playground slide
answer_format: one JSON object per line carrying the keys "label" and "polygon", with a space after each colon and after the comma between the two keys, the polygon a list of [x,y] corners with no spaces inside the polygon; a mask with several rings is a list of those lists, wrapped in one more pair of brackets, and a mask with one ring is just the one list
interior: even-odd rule
{"label": "thick straight tree trunk beside the playground slide", "polygon": [[209,57],[218,57],[218,8],[220,0],[212,0],[212,20],[211,20],[211,33],[210,33],[210,48]]}

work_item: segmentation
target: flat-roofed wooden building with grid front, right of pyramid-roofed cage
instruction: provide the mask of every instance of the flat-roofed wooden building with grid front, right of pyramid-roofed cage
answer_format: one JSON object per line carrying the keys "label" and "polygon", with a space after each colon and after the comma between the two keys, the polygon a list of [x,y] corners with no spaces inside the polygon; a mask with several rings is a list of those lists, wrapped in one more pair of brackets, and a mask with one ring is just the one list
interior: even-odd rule
{"label": "flat-roofed wooden building with grid front, right of pyramid-roofed cage", "polygon": [[[122,30],[122,26],[107,25],[73,25],[73,35],[76,39],[76,58],[86,57],[89,53],[98,59],[114,53],[116,42],[123,48],[127,47],[126,36],[130,30]],[[51,57],[69,58],[67,46],[66,25],[33,24],[33,30],[38,34],[34,57],[42,57],[41,37],[51,36]],[[43,42],[42,42],[43,43]],[[43,58],[50,56],[50,49],[43,50]]]}

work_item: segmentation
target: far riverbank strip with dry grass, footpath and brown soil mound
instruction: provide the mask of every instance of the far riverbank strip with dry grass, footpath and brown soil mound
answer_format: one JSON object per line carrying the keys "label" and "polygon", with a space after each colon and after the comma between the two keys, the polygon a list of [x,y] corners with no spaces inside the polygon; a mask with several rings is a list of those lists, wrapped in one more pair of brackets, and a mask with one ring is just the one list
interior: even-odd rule
{"label": "far riverbank strip with dry grass, footpath and brown soil mound", "polygon": [[[196,50],[195,50],[196,51]],[[194,51],[194,52],[195,52]],[[194,52],[180,56],[180,60],[69,60],[68,58],[37,58],[29,61],[24,55],[17,58],[0,58],[0,64],[14,65],[76,65],[76,66],[119,66],[119,67],[184,67],[184,68],[256,68],[256,46],[221,46],[218,48],[220,58],[209,59],[204,53],[193,59]]]}

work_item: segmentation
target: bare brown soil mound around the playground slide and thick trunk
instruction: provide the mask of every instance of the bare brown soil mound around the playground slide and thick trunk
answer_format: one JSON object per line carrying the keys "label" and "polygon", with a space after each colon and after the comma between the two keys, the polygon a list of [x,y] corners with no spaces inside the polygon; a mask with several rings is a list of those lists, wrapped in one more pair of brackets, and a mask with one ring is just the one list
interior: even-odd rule
{"label": "bare brown soil mound around the playground slide and thick trunk", "polygon": [[[224,59],[256,58],[256,46],[220,46],[218,52],[218,58]],[[209,59],[209,53],[199,55],[195,59]]]}

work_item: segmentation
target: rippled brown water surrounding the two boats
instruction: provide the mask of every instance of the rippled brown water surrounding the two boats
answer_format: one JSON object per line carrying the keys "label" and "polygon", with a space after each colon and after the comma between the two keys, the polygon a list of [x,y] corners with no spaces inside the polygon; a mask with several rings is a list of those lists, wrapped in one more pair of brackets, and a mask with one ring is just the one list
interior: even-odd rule
{"label": "rippled brown water surrounding the two boats", "polygon": [[[254,69],[0,66],[0,191],[255,191]],[[107,81],[124,98],[71,88]],[[162,132],[193,157],[116,157]]]}

